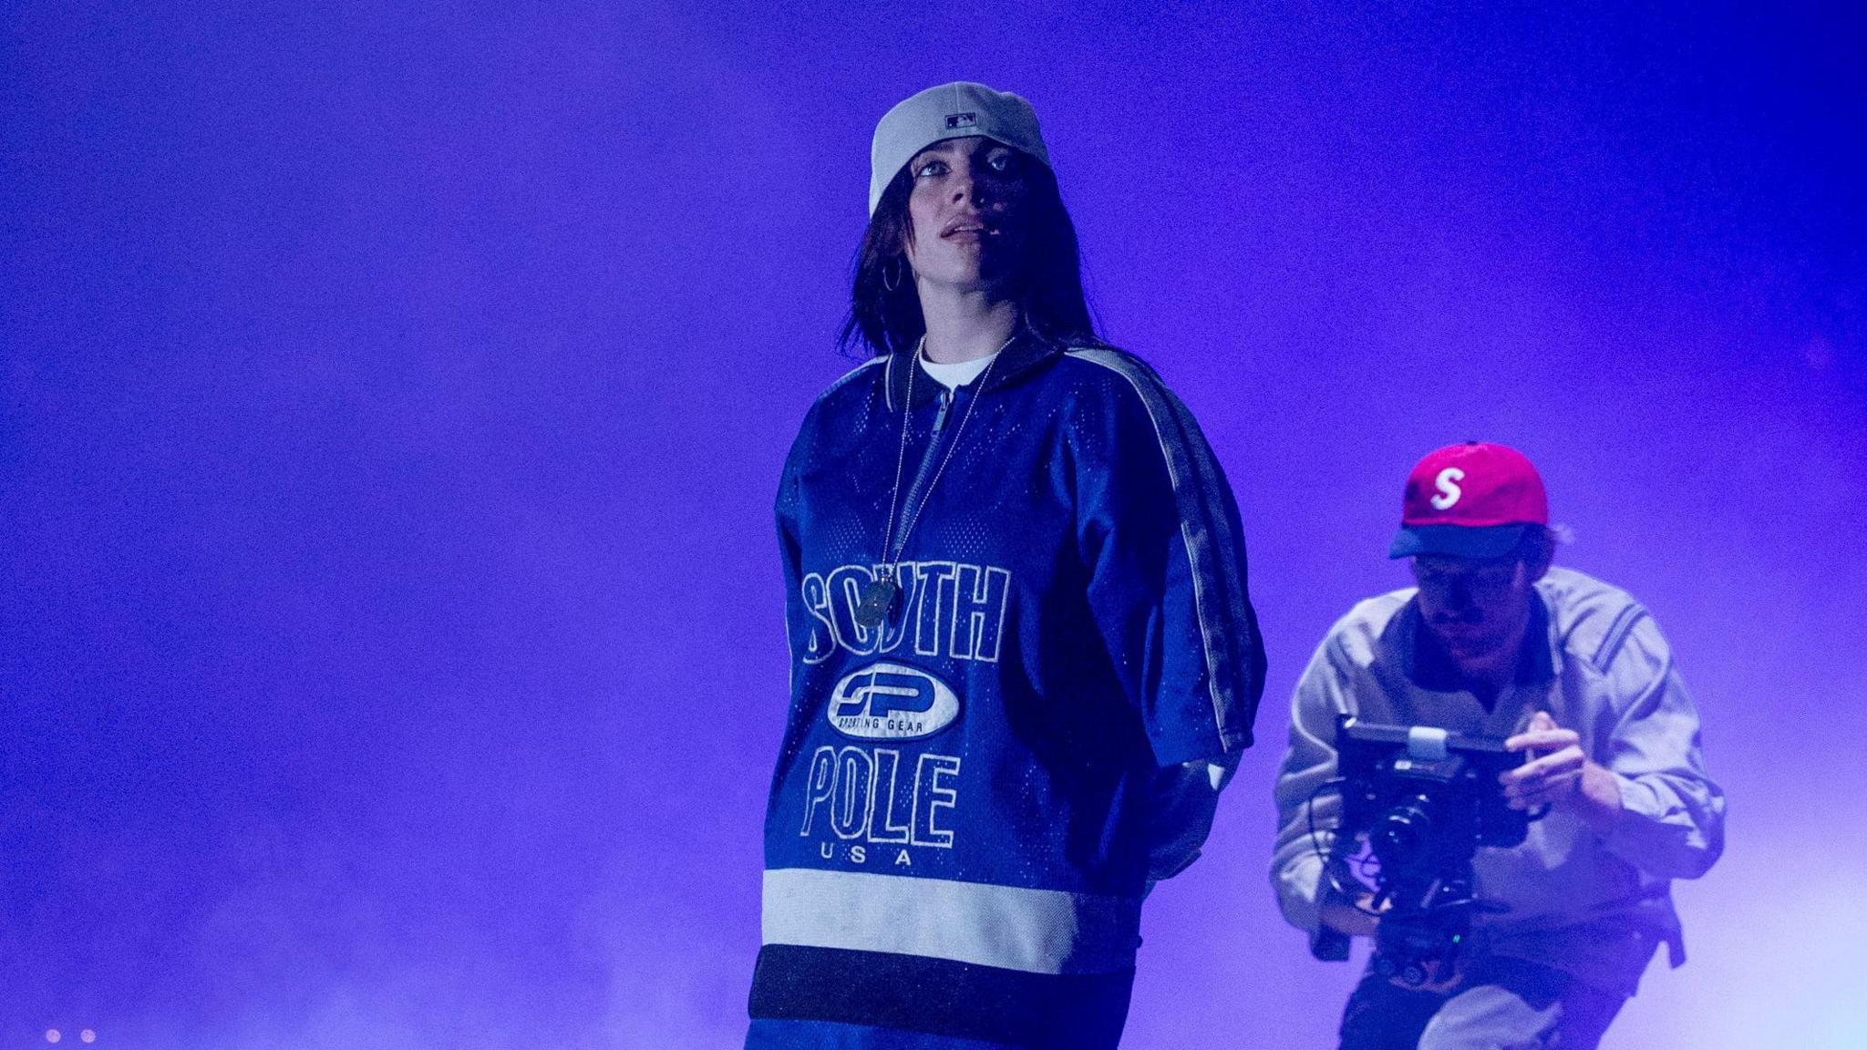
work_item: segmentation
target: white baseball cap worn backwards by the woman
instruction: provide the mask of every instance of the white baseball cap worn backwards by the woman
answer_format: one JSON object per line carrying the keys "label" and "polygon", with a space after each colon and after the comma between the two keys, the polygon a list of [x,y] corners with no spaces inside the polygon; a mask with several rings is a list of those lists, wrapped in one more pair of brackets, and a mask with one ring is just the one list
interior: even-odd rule
{"label": "white baseball cap worn backwards by the woman", "polygon": [[909,95],[876,125],[876,140],[868,148],[868,213],[876,213],[881,192],[915,153],[947,138],[975,135],[1023,149],[1049,166],[1049,149],[1031,103],[1010,92],[954,80]]}

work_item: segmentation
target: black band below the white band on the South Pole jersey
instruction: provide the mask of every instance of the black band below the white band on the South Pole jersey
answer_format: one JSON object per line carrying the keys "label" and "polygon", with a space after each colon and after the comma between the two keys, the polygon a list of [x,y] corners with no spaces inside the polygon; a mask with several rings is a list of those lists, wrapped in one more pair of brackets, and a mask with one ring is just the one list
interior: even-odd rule
{"label": "black band below the white band on the South Pole jersey", "polygon": [[1042,1050],[1113,1050],[1135,972],[1025,973],[997,966],[767,944],[752,973],[751,1015],[831,1020],[1010,1043]]}

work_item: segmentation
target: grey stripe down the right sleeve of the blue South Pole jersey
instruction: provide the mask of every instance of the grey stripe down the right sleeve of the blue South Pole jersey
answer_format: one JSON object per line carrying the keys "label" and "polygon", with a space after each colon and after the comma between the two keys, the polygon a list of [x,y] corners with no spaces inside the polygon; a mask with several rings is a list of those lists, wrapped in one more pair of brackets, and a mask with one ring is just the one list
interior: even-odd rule
{"label": "grey stripe down the right sleeve of the blue South Pole jersey", "polygon": [[[1072,349],[1070,357],[1124,377],[1154,424],[1174,491],[1180,536],[1191,562],[1193,605],[1206,656],[1214,725],[1227,747],[1247,747],[1260,689],[1255,678],[1260,673],[1256,661],[1243,654],[1253,652],[1258,641],[1240,564],[1243,538],[1236,534],[1225,510],[1223,482],[1212,450],[1186,405],[1139,361],[1111,349]],[[1238,725],[1228,725],[1234,719]]]}

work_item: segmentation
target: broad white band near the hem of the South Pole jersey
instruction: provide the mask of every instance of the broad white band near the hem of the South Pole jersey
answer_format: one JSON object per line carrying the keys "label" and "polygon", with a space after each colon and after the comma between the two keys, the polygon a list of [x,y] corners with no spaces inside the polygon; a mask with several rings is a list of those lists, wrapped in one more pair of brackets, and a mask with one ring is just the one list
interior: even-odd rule
{"label": "broad white band near the hem of the South Pole jersey", "polygon": [[1113,973],[1135,964],[1141,901],[790,867],[765,873],[762,925],[764,944]]}

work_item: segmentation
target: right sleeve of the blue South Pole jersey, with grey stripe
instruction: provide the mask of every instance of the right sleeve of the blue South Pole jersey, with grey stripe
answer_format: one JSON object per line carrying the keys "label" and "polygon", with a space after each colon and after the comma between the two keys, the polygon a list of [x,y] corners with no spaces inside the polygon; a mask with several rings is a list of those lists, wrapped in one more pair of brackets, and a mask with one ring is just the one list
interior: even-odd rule
{"label": "right sleeve of the blue South Pole jersey, with grey stripe", "polygon": [[1251,745],[1264,641],[1245,589],[1232,490],[1193,415],[1139,361],[1072,351],[1120,376],[1077,456],[1088,603],[1159,766]]}

